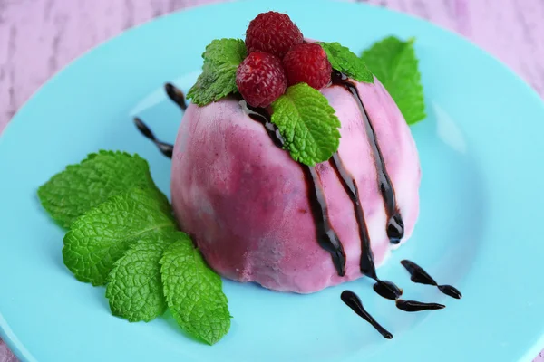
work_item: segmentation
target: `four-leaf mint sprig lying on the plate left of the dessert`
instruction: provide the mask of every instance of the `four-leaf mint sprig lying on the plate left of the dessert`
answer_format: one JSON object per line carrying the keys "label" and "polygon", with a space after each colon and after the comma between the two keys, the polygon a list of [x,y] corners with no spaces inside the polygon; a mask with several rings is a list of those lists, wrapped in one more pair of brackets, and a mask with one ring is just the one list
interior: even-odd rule
{"label": "four-leaf mint sprig lying on the plate left of the dessert", "polygon": [[113,315],[150,321],[170,306],[182,329],[209,344],[228,332],[221,279],[177,230],[171,206],[141,157],[92,154],[53,176],[39,196],[61,220],[83,213],[66,223],[64,264],[79,281],[107,283]]}

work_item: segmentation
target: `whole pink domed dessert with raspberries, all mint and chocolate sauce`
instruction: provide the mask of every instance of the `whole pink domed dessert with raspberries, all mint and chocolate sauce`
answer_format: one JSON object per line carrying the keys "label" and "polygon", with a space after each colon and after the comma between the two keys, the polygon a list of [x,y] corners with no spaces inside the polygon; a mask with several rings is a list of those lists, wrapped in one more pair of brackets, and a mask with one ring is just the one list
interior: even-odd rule
{"label": "whole pink domed dessert with raspberries, all mint and chocolate sauce", "polygon": [[[175,146],[134,119],[172,158],[172,205],[147,162],[119,151],[90,154],[39,188],[67,229],[63,262],[75,278],[105,285],[115,316],[150,321],[169,309],[210,345],[232,318],[219,274],[296,293],[367,276],[399,310],[443,309],[402,300],[376,271],[419,213],[407,125],[424,118],[413,40],[388,37],[357,57],[268,12],[251,21],[245,41],[214,40],[203,58],[189,106],[165,87],[185,113]],[[461,298],[414,262],[402,264],[413,282]],[[340,299],[393,338],[355,292]]]}

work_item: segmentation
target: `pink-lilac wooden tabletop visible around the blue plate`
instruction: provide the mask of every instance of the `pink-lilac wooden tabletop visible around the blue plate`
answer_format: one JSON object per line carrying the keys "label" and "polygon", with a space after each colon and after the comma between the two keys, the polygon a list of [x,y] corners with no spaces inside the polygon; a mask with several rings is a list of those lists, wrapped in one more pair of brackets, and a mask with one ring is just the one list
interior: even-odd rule
{"label": "pink-lilac wooden tabletop visible around the blue plate", "polygon": [[[34,90],[97,43],[155,16],[219,1],[0,0],[0,132]],[[461,33],[505,62],[544,97],[544,0],[364,2]],[[0,340],[0,362],[15,361]],[[544,362],[544,357],[536,357],[535,362]]]}

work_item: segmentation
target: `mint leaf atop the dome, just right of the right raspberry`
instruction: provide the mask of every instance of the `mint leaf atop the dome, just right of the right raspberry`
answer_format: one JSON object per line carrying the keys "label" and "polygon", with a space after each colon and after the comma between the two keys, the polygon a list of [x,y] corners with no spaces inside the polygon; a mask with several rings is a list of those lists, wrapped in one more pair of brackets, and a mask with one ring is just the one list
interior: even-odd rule
{"label": "mint leaf atop the dome, just right of the right raspberry", "polygon": [[326,52],[333,69],[341,71],[355,81],[374,83],[372,72],[366,68],[364,61],[340,43],[319,43]]}

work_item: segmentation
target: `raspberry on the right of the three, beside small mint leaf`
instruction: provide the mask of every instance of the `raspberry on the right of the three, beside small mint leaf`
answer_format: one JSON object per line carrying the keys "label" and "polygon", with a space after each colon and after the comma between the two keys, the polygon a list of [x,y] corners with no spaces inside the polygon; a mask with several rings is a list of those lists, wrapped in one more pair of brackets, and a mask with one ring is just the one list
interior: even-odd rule
{"label": "raspberry on the right of the three, beside small mint leaf", "polygon": [[319,44],[296,45],[287,52],[283,63],[289,85],[305,82],[310,87],[320,90],[331,81],[333,67]]}

